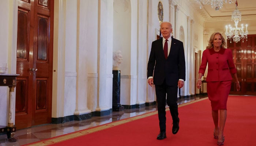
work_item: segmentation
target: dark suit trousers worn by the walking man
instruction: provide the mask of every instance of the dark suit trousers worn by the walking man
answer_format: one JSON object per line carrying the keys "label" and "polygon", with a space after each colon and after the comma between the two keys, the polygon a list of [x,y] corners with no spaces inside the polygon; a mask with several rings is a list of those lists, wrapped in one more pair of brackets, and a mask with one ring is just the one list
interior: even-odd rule
{"label": "dark suit trousers worn by the walking man", "polygon": [[[159,127],[161,132],[166,131],[166,103],[169,106],[173,123],[178,122],[178,104],[177,104],[177,86],[167,86],[165,81],[162,85],[155,85],[155,93],[157,95],[157,108]],[[167,96],[166,96],[167,95]],[[167,102],[166,102],[167,100]]]}

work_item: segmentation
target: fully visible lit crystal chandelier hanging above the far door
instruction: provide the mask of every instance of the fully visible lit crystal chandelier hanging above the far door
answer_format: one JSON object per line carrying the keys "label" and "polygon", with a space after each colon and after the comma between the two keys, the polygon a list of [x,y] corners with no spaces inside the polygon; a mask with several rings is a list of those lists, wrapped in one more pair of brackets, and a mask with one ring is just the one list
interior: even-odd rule
{"label": "fully visible lit crystal chandelier hanging above the far door", "polygon": [[[240,39],[242,39],[242,42],[244,42],[244,39],[246,38],[247,41],[247,35],[248,35],[248,30],[247,27],[248,25],[245,25],[245,31],[244,31],[244,25],[241,24],[241,27],[237,27],[238,21],[241,21],[242,15],[241,12],[237,9],[237,0],[236,0],[236,9],[234,12],[232,12],[231,20],[235,22],[235,27],[231,27],[230,24],[229,26],[226,26],[226,31],[225,35],[227,39],[230,39],[231,43],[231,38],[233,39],[234,42],[239,42]],[[229,29],[228,29],[229,28]]]}

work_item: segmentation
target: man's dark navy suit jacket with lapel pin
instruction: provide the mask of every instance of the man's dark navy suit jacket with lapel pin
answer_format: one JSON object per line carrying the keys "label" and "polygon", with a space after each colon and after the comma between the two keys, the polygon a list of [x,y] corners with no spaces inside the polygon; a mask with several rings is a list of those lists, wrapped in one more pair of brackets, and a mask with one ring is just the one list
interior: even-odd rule
{"label": "man's dark navy suit jacket with lapel pin", "polygon": [[185,56],[183,43],[172,38],[170,53],[165,59],[163,53],[163,38],[152,42],[147,66],[147,77],[153,76],[155,85],[166,81],[168,86],[177,86],[178,80],[185,81]]}

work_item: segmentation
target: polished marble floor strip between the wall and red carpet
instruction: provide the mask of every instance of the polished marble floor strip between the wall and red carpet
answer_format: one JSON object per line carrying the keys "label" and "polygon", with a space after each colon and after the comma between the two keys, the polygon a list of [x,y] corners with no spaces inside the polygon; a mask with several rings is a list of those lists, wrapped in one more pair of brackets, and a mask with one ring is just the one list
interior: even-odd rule
{"label": "polished marble floor strip between the wall and red carpet", "polygon": [[[192,97],[178,98],[178,104],[188,103],[189,101],[198,100],[207,97],[207,95],[198,95]],[[6,142],[6,135],[0,135],[0,146],[20,146],[32,142],[41,141],[44,139],[56,137],[63,134],[68,134],[78,130],[99,126],[106,123],[111,123],[117,120],[130,118],[133,116],[146,114],[148,112],[156,111],[156,105],[145,108],[125,109],[120,112],[112,112],[110,115],[101,117],[92,117],[91,119],[82,121],[71,121],[63,124],[44,124],[33,126],[30,128],[20,129],[15,132],[17,142]]]}

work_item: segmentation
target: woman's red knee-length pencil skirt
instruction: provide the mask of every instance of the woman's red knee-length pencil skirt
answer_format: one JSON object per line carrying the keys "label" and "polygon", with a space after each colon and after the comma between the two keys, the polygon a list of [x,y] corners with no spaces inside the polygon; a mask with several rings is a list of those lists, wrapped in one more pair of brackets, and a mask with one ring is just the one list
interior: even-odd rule
{"label": "woman's red knee-length pencil skirt", "polygon": [[211,101],[212,111],[227,110],[227,97],[231,88],[231,80],[207,82],[207,94]]}

